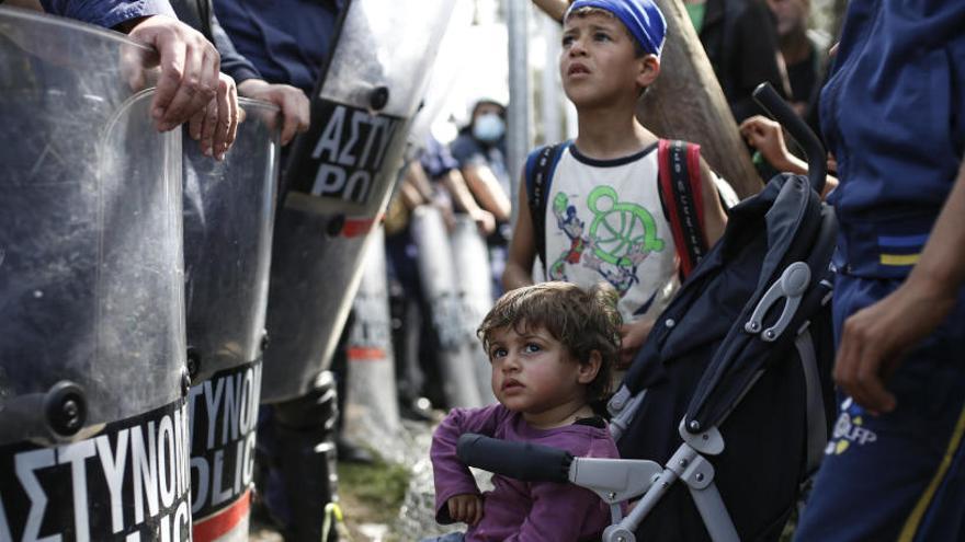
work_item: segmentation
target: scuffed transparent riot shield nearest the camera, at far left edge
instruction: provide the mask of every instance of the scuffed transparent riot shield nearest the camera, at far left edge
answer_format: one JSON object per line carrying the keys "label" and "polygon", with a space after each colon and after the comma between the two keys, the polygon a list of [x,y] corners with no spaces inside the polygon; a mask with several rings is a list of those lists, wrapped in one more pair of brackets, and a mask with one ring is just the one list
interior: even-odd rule
{"label": "scuffed transparent riot shield nearest the camera, at far left edge", "polygon": [[180,135],[154,54],[0,8],[0,540],[191,534]]}

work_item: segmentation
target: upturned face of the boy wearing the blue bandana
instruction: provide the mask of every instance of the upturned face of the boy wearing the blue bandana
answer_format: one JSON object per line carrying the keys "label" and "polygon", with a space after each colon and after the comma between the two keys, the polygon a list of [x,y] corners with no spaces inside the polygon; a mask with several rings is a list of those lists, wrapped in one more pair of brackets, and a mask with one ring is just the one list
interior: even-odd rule
{"label": "upturned face of the boy wearing the blue bandana", "polygon": [[604,14],[570,16],[563,30],[559,77],[577,107],[633,101],[656,78],[656,57],[637,58],[623,23]]}

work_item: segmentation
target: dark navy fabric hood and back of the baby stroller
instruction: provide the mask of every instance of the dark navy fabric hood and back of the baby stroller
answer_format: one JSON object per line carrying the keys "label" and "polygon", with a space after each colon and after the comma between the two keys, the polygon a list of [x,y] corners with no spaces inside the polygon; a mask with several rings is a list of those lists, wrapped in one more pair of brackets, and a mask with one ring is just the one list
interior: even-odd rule
{"label": "dark navy fabric hood and back of the baby stroller", "polygon": [[[835,414],[836,233],[833,209],[799,175],[777,175],[731,208],[609,404],[624,459],[667,464],[682,442],[719,431],[723,451],[705,458],[740,540],[779,539],[824,454]],[[638,532],[708,539],[685,484]]]}

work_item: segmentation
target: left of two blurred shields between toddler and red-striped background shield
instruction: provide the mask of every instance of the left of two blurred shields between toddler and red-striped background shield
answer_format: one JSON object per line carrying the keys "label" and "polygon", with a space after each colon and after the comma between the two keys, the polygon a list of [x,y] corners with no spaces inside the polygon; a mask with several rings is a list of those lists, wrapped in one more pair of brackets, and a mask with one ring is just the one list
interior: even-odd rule
{"label": "left of two blurred shields between toddler and red-striped background shield", "polygon": [[[475,358],[466,341],[464,307],[442,212],[429,205],[418,207],[412,211],[411,228],[412,239],[419,247],[422,290],[429,300],[432,328],[439,343],[439,369],[447,406],[481,406],[478,371],[473,367]],[[489,367],[488,360],[486,367]],[[488,373],[486,382],[489,382]]]}

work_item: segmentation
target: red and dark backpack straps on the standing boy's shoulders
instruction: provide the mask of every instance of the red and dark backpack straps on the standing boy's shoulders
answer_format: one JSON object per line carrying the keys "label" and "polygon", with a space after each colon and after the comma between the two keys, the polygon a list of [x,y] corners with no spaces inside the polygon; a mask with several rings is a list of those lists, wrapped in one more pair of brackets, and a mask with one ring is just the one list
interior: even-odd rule
{"label": "red and dark backpack straps on the standing boy's shoulders", "polygon": [[[526,198],[533,221],[536,255],[546,269],[546,196],[563,152],[572,145],[564,141],[530,152],[524,170]],[[660,201],[670,222],[680,275],[685,278],[707,252],[704,238],[704,207],[701,191],[701,147],[686,141],[660,139],[657,147]],[[669,194],[669,197],[668,197]]]}

